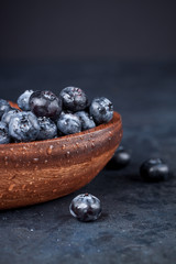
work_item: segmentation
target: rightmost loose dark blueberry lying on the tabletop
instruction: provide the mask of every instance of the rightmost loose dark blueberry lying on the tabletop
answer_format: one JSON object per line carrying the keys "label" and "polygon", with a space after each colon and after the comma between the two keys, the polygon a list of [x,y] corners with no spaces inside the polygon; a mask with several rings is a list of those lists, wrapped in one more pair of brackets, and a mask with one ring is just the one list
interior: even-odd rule
{"label": "rightmost loose dark blueberry lying on the tabletop", "polygon": [[168,174],[168,166],[161,158],[150,158],[140,167],[140,175],[146,182],[166,180]]}

